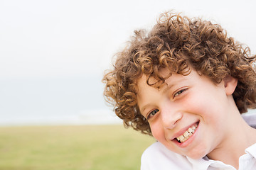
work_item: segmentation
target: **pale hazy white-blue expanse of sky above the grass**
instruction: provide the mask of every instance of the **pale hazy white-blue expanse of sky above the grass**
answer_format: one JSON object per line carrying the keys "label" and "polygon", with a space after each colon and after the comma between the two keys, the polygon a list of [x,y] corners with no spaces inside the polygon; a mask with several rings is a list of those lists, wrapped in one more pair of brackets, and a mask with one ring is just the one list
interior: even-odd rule
{"label": "pale hazy white-blue expanse of sky above the grass", "polygon": [[[1,0],[0,125],[117,123],[103,72],[164,11],[220,23],[256,53],[255,1]],[[113,119],[112,119],[113,118]]]}

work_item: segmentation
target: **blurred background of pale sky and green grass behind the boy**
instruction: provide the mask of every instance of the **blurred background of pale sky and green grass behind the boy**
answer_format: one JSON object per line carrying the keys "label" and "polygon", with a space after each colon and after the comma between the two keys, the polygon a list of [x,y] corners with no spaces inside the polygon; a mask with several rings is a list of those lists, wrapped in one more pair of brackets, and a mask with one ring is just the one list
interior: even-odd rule
{"label": "blurred background of pale sky and green grass behind the boy", "polygon": [[[252,0],[0,0],[0,169],[40,169],[42,157],[43,162],[50,162],[46,155],[78,150],[72,157],[82,165],[66,165],[70,157],[56,156],[50,159],[65,164],[49,166],[51,162],[42,169],[64,169],[70,164],[81,168],[69,169],[107,169],[100,164],[110,169],[139,169],[139,158],[153,140],[119,131],[122,121],[104,101],[101,79],[105,69],[112,67],[113,55],[134,30],[150,29],[160,13],[172,9],[220,23],[255,54],[255,5]],[[92,144],[101,149],[93,152]],[[38,150],[38,146],[44,147]],[[127,150],[120,149],[124,146]],[[45,156],[39,157],[41,153]],[[120,155],[128,158],[120,161]],[[14,157],[16,163],[11,162]],[[85,162],[86,157],[92,161]],[[112,163],[119,158],[122,166],[110,165],[110,158]],[[127,162],[133,159],[136,162]]]}

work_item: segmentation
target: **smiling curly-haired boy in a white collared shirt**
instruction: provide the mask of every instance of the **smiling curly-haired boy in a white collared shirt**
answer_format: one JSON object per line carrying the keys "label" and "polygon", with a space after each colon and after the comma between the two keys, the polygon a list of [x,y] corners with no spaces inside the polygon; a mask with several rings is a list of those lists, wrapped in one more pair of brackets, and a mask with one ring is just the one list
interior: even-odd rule
{"label": "smiling curly-haired boy in a white collared shirt", "polygon": [[240,115],[256,108],[255,57],[198,18],[136,31],[103,81],[124,125],[158,141],[141,169],[256,169],[256,115]]}

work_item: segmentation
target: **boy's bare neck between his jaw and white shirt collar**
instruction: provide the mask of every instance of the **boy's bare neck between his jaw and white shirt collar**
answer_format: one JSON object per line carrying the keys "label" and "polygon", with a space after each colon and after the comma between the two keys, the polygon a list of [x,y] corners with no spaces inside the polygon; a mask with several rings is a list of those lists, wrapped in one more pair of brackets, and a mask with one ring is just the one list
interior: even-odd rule
{"label": "boy's bare neck between his jaw and white shirt collar", "polygon": [[[236,117],[235,117],[236,116]],[[251,128],[239,115],[234,115],[233,127],[228,130],[222,144],[207,156],[213,160],[219,160],[230,164],[236,169],[239,167],[239,157],[245,154],[245,149],[256,143],[256,129]]]}

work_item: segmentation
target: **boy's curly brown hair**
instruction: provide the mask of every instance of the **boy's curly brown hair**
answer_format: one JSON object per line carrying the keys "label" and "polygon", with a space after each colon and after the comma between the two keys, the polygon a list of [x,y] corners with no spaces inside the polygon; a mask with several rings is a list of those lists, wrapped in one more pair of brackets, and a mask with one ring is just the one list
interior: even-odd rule
{"label": "boy's curly brown hair", "polygon": [[[218,24],[179,13],[162,13],[151,32],[134,31],[127,47],[117,54],[114,69],[102,81],[105,99],[124,121],[124,126],[151,135],[149,123],[137,106],[137,79],[145,74],[164,83],[159,69],[187,75],[191,68],[215,84],[225,77],[238,79],[233,98],[240,113],[256,108],[255,55],[242,47]],[[152,85],[152,84],[149,84]]]}

